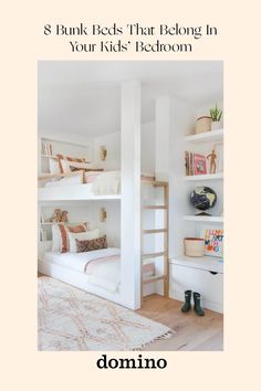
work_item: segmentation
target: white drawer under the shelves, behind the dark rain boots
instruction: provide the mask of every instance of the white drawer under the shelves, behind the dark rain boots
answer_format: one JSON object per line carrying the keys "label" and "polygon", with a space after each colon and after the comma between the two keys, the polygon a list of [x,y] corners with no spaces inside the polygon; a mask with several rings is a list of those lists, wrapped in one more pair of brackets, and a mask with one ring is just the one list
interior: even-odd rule
{"label": "white drawer under the shelves, behind the dark rain boots", "polygon": [[184,292],[187,289],[202,295],[203,307],[222,311],[222,274],[175,264],[170,265],[170,295],[178,300],[184,300]]}

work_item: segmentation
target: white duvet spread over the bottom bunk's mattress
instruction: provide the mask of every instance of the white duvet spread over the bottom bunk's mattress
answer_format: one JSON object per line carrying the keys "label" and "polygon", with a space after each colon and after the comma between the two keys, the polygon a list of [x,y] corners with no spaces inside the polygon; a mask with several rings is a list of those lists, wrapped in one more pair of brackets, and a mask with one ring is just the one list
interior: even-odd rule
{"label": "white duvet spread over the bottom bunk's mattress", "polygon": [[[117,247],[90,251],[85,253],[59,253],[48,252],[44,254],[44,261],[54,263],[75,272],[85,273],[87,264],[92,261],[121,255]],[[101,286],[107,290],[116,292],[121,283],[121,262],[105,262],[95,267],[95,273],[86,276],[88,283]]]}

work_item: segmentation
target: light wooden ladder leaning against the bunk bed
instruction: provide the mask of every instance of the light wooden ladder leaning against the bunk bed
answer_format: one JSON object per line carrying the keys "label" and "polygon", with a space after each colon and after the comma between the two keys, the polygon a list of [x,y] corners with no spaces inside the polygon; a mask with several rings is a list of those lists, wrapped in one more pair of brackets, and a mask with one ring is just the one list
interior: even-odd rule
{"label": "light wooden ladder leaning against the bunk bed", "polygon": [[[144,230],[143,229],[143,215],[142,215],[142,254],[140,254],[140,276],[142,276],[142,284],[140,284],[140,304],[143,303],[143,290],[144,285],[155,283],[158,281],[164,282],[164,296],[168,296],[168,284],[169,284],[169,273],[168,273],[168,182],[157,181],[157,180],[143,180],[142,184],[153,184],[155,188],[163,187],[164,188],[164,203],[161,205],[142,205],[143,210],[163,210],[164,211],[164,228],[158,230]],[[146,254],[143,253],[143,236],[146,234],[157,234],[164,233],[164,250],[157,253]],[[156,275],[149,278],[143,277],[143,264],[144,260],[148,258],[156,258],[161,257],[164,265],[163,265],[163,274]]]}

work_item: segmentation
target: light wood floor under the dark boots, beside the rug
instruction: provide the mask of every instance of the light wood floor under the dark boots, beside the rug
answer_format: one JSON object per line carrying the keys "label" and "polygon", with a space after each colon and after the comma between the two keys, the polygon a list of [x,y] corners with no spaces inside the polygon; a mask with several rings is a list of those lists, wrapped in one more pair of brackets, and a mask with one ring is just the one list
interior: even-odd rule
{"label": "light wood floor under the dark boots, beside the rug", "polygon": [[144,298],[143,308],[137,313],[176,331],[170,339],[154,342],[145,350],[222,350],[223,316],[208,309],[202,317],[196,315],[192,309],[188,314],[182,314],[180,307],[180,302],[158,295]]}

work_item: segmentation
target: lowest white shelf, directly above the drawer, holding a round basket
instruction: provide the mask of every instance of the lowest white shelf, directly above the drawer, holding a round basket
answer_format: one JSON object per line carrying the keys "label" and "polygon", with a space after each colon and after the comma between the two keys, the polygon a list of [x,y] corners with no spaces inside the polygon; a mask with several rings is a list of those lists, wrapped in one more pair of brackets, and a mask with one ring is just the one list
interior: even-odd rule
{"label": "lowest white shelf, directly above the drawer, holding a round basket", "polygon": [[176,264],[180,266],[196,267],[205,271],[211,271],[215,273],[223,273],[223,262],[222,258],[215,256],[175,256],[169,260],[170,264]]}

